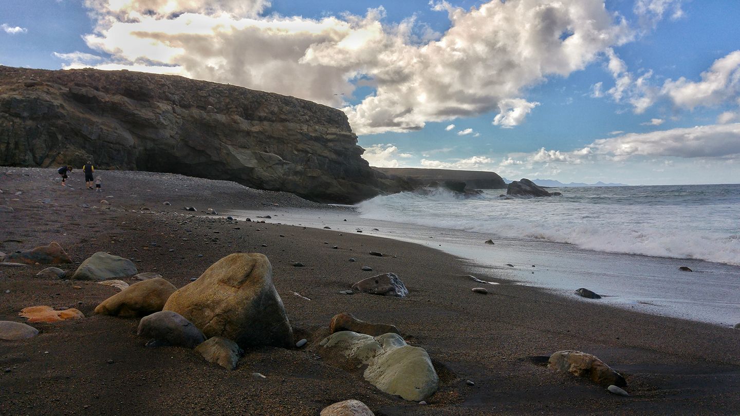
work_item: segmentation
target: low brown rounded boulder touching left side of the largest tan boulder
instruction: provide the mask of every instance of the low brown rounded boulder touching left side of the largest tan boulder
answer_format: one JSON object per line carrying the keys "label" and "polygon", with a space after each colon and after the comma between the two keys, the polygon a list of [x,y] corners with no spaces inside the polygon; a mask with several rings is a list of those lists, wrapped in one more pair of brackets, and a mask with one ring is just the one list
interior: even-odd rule
{"label": "low brown rounded boulder touching left side of the largest tan boulder", "polygon": [[95,308],[95,313],[124,318],[149,315],[161,311],[175,290],[163,278],[140,281],[107,298]]}

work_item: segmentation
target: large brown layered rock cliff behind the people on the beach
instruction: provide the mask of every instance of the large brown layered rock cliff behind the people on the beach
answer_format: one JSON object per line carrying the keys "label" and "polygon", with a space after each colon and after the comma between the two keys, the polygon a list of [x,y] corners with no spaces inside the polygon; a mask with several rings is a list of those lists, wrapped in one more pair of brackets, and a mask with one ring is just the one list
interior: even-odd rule
{"label": "large brown layered rock cliff behind the people on the beach", "polygon": [[388,187],[340,110],[129,71],[0,66],[0,164],[172,172],[354,203]]}

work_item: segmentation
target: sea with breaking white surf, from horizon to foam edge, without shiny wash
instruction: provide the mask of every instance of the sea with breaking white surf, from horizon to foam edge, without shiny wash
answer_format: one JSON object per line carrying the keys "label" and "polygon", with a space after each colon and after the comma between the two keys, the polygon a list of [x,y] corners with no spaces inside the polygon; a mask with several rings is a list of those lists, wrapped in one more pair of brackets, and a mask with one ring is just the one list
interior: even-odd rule
{"label": "sea with breaking white surf, from horizon to foam edge, without shiny wash", "polygon": [[560,189],[562,197],[380,196],[362,218],[542,239],[600,252],[740,265],[740,185]]}

